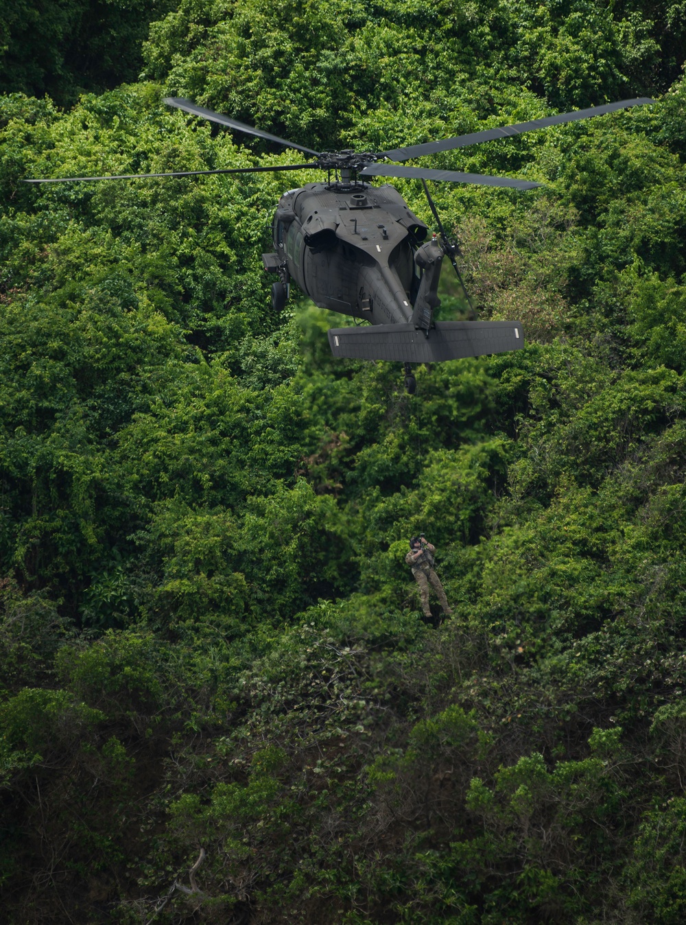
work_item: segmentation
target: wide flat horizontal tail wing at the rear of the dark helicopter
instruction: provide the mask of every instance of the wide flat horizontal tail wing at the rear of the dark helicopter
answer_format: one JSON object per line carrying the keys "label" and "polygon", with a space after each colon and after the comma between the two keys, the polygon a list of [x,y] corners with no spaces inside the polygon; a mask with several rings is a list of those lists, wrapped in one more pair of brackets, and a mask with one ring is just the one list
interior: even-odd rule
{"label": "wide flat horizontal tail wing at the rear of the dark helicopter", "polygon": [[334,356],[397,363],[441,363],[524,346],[519,321],[439,321],[428,338],[411,324],[332,327],[328,334]]}

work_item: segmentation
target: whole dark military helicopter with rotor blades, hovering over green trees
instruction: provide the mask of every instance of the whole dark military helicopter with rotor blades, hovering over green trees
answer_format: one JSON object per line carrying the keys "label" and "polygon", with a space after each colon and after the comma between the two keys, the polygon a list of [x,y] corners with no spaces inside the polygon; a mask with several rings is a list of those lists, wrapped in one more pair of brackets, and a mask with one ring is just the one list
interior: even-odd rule
{"label": "whole dark military helicopter with rotor blades, hovering over green trees", "polygon": [[[237,119],[195,105],[191,100],[167,97],[165,103],[193,116],[209,119],[230,129],[282,144],[310,154],[305,164],[236,167],[217,170],[185,170],[159,174],[121,174],[112,177],[29,179],[29,183],[65,183],[100,179],[190,177],[198,174],[239,174],[260,171],[311,170],[327,172],[326,182],[308,183],[288,190],[279,200],[272,223],[274,252],[263,254],[264,268],[277,275],[272,286],[272,306],[283,308],[294,279],[320,308],[352,315],[371,327],[338,327],[328,332],[337,357],[390,360],[403,364],[405,387],[416,388],[411,364],[437,363],[459,357],[481,356],[519,350],[524,345],[518,321],[435,322],[440,305],[438,277],[444,257],[455,268],[459,282],[458,244],[450,240],[435,208],[427,179],[485,186],[533,190],[543,186],[529,180],[488,177],[435,170],[427,167],[381,164],[382,160],[406,161],[423,154],[509,138],[533,129],[602,116],[629,106],[653,103],[649,97],[592,106],[559,116],[533,119],[502,129],[485,129],[440,142],[411,144],[381,152],[318,152],[296,142],[255,129]],[[333,176],[332,176],[333,175]],[[373,177],[421,179],[435,218],[438,235],[426,240],[429,228],[410,211],[395,187],[372,186]],[[466,290],[465,294],[466,294]],[[469,297],[468,297],[469,299]]]}

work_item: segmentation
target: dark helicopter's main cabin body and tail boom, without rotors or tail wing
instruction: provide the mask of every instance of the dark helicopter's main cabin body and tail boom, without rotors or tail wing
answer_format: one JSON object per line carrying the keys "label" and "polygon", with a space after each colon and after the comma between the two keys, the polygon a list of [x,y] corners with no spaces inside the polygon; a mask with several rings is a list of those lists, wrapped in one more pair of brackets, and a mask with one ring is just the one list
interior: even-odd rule
{"label": "dark helicopter's main cabin body and tail boom, without rotors or tail wing", "polygon": [[264,265],[285,286],[295,280],[320,308],[373,325],[406,324],[420,290],[415,254],[427,232],[393,186],[309,183],[281,197],[276,253],[264,254]]}

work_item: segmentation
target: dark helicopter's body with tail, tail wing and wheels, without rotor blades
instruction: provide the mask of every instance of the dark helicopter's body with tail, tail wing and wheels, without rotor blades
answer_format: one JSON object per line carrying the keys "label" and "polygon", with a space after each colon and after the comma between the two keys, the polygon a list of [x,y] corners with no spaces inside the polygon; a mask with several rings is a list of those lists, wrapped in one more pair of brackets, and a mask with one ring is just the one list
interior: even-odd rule
{"label": "dark helicopter's body with tail, tail wing and wheels, without rotor blades", "polygon": [[334,356],[402,363],[410,393],[413,363],[520,349],[518,322],[434,321],[443,258],[459,252],[435,235],[424,240],[428,230],[393,186],[344,181],[289,190],[273,220],[275,253],[263,253],[265,269],[279,276],[272,306],[283,308],[294,279],[320,308],[369,322],[330,328]]}

